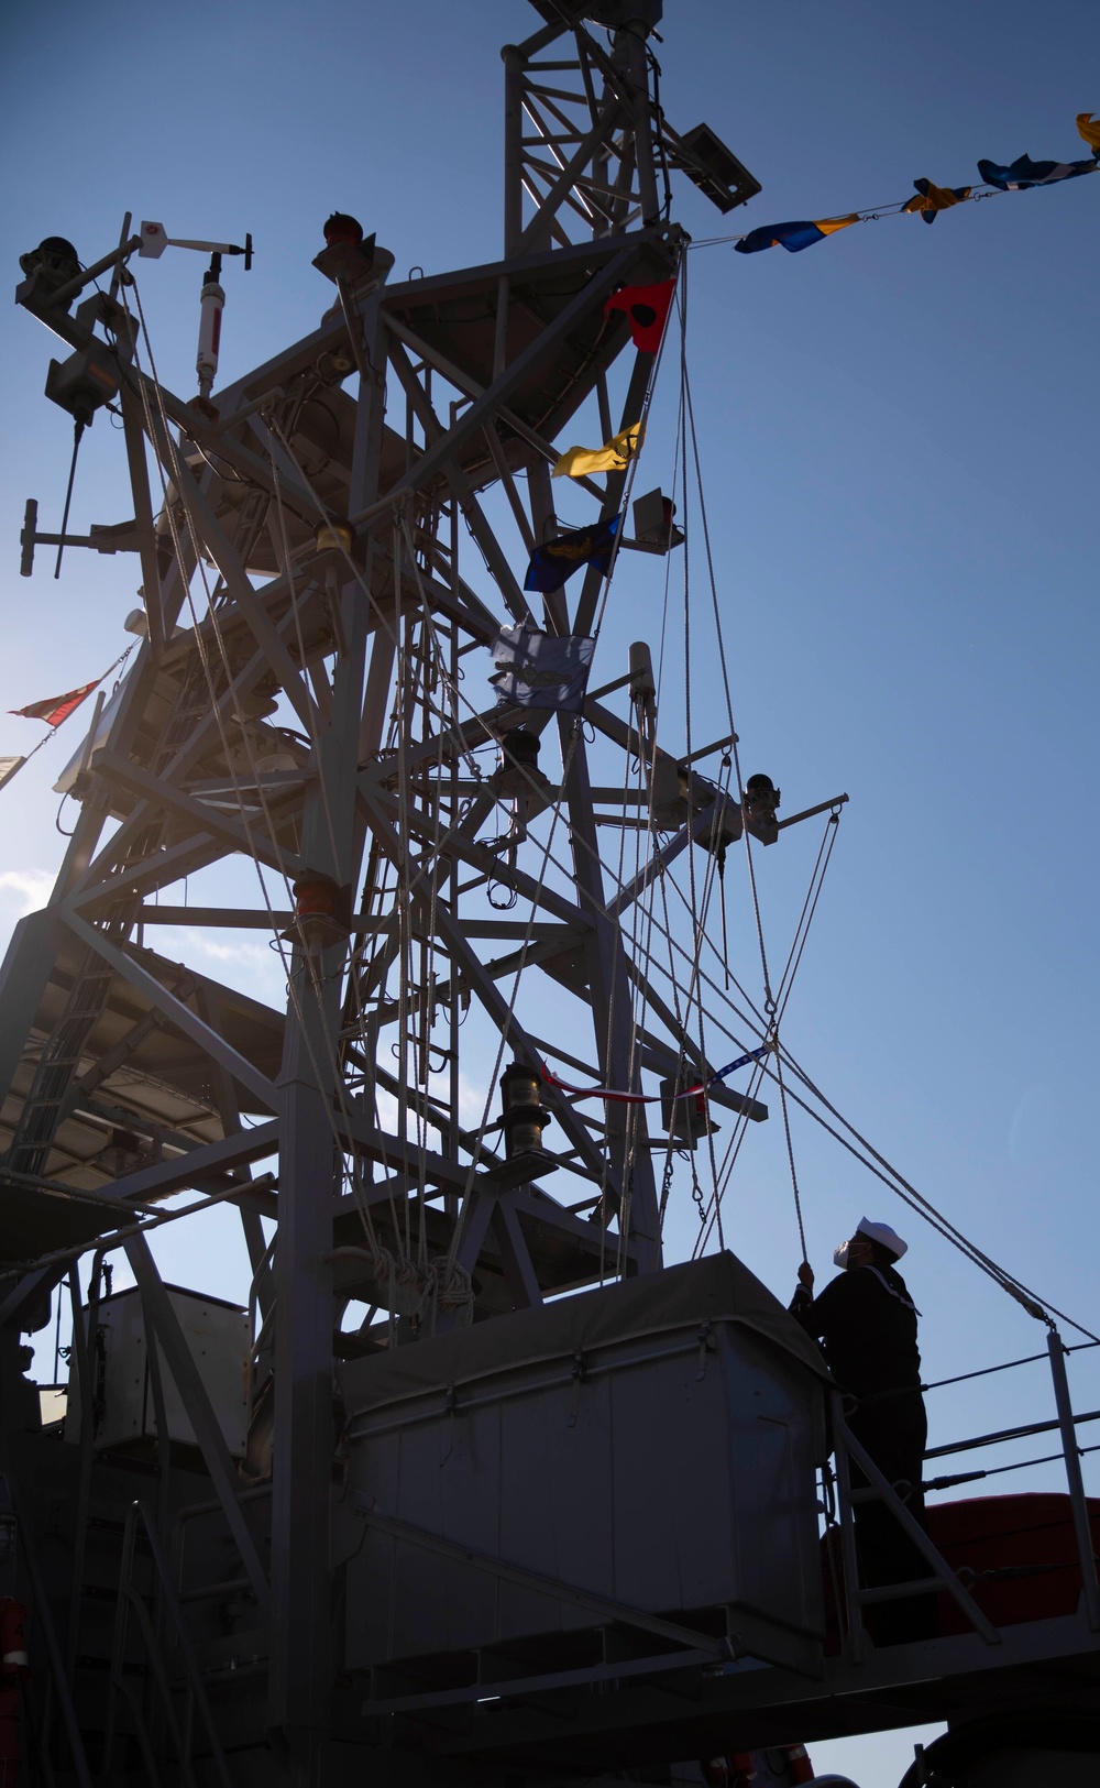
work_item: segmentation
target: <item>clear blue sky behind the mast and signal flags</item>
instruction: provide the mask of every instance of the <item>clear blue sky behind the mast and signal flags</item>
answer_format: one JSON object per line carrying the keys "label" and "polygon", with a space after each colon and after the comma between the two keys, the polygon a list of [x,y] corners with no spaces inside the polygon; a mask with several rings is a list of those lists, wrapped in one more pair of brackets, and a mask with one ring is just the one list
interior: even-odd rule
{"label": "clear blue sky behind the mast and signal flags", "polygon": [[[9,277],[45,234],[97,257],[127,209],[170,234],[240,240],[250,229],[254,272],[225,272],[233,377],[327,306],[309,259],[333,207],[377,229],[399,274],[490,259],[501,236],[497,52],[535,23],[522,0],[123,0],[109,30],[70,0],[21,9],[7,25],[0,118],[5,161],[18,166],[0,218]],[[671,0],[662,34],[671,122],[705,118],[764,186],[723,218],[678,182],[674,215],[696,240],[898,200],[921,175],[975,181],[978,157],[1075,159],[1086,148],[1073,118],[1100,107],[1084,73],[1100,38],[1087,0],[1052,0],[1041,14],[1018,0]],[[1098,204],[1100,179],[1084,179],[966,206],[934,229],[884,218],[801,256],[698,249],[687,343],[744,765],[782,785],[785,812],[851,796],[787,1042],[907,1178],[1086,1323],[1096,1309],[1100,1067]],[[200,274],[197,256],[172,250],[143,274],[161,374],[184,395]],[[34,579],[18,578],[23,501],[36,495],[39,526],[57,526],[68,470],[68,418],[41,397],[52,350],[29,316],[11,318],[0,345],[0,710],[104,670],[125,644],[138,583],[132,560],[79,552],[54,583],[45,549]],[[651,483],[671,472],[674,399],[665,368]],[[129,513],[122,443],[100,417],[72,526]],[[726,710],[698,527],[690,544],[696,728],[717,737]],[[656,642],[660,579],[644,570],[619,611],[612,595],[599,681],[619,674],[639,628]],[[669,653],[662,726],[674,740],[683,669]],[[4,928],[43,898],[59,862],[50,785],[79,744],[75,728],[0,796]],[[34,722],[0,713],[0,755],[38,737]],[[776,955],[816,848],[817,833],[792,831],[760,853]],[[732,899],[751,976],[744,890]],[[265,969],[238,964],[245,976]],[[1041,1348],[1037,1325],[828,1139],[796,1119],[794,1143],[819,1273],[864,1210],[909,1236],[930,1377]],[[785,1175],[771,1125],[753,1135],[726,1202],[730,1244],[782,1293],[798,1261]],[[683,1203],[669,1236],[676,1257],[694,1239]],[[173,1277],[186,1264],[175,1261]],[[1082,1407],[1100,1402],[1095,1359],[1071,1368]],[[1045,1418],[1043,1370],[1027,1373],[980,1380],[969,1400],[941,1393],[934,1438]],[[1057,1477],[1000,1484],[1057,1488]],[[1091,1484],[1100,1489],[1095,1468]],[[864,1788],[889,1788],[910,1756],[901,1738],[817,1750]]]}

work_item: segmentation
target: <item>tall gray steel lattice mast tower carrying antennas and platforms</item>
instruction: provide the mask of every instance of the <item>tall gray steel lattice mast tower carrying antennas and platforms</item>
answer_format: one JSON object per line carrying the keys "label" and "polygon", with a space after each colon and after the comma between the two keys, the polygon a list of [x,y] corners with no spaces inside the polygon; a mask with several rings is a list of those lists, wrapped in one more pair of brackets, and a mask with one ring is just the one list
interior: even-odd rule
{"label": "tall gray steel lattice mast tower carrying antennas and platforms", "polygon": [[[136,1218],[182,1189],[240,1207],[270,1368],[270,1563],[199,1382],[195,1432],[268,1627],[268,1725],[302,1759],[302,1779],[333,1691],[343,1303],[363,1300],[404,1341],[424,1323],[440,1332],[660,1266],[644,1109],[608,1103],[597,1119],[544,1084],[556,1148],[540,1143],[542,1118],[528,1126],[533,1148],[504,1159],[463,1128],[470,1001],[499,1030],[504,1060],[528,1071],[544,1041],[537,1005],[503,991],[519,967],[540,967],[590,1008],[590,1041],[572,1044],[585,1078],[639,1089],[642,1069],[714,1066],[621,932],[662,864],[714,831],[708,785],[674,767],[681,822],[633,883],[610,887],[597,822],[608,805],[621,810],[621,790],[592,785],[574,715],[478,713],[458,697],[463,654],[492,644],[503,617],[558,637],[592,631],[601,572],[578,579],[572,604],[558,588],[533,611],[494,515],[510,513],[533,551],[558,531],[549,467],[580,404],[597,395],[605,436],[642,417],[647,352],[610,415],[606,374],[630,329],[605,304],[619,286],[676,274],[669,170],[723,209],[757,190],[705,127],[678,136],[665,122],[647,43],[655,0],[587,7],[610,27],[606,45],[581,9],[537,11],[540,29],[503,52],[503,259],[395,283],[385,250],[368,261],[329,249],[322,325],[213,404],[152,374],[123,272],[138,238],[68,281],[39,268],[18,293],[84,372],[106,367],[118,388],[134,520],[91,544],[138,552],[145,640],[80,767],[80,815],[50,903],[20,924],[2,971],[4,1255],[23,1275],[9,1277],[0,1314],[25,1327],[75,1253],[125,1241],[182,1382],[182,1341]],[[86,297],[100,270],[111,293]],[[588,485],[601,519],[619,515],[624,481]],[[495,583],[495,611],[463,574],[469,552]],[[599,694],[585,721],[653,767],[644,690],[631,694],[630,722]],[[531,755],[547,722],[560,787]],[[483,776],[472,753],[504,735]],[[524,864],[528,822],[558,803],[571,892]],[[295,901],[156,905],[161,889],[231,858],[261,865]],[[487,889],[515,894],[531,923],[487,917]],[[161,957],[147,939],[163,923],[284,933],[286,1012]],[[715,1100],[746,1109],[733,1092]],[[272,1171],[254,1178],[263,1162]],[[538,1184],[551,1169],[572,1200]],[[263,1219],[277,1225],[272,1246]]]}

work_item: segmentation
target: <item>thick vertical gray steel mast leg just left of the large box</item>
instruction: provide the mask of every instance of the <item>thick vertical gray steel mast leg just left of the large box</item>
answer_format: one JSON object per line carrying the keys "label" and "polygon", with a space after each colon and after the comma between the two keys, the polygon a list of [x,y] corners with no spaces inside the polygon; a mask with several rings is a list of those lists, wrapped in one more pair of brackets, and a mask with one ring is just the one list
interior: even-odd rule
{"label": "thick vertical gray steel mast leg just left of the large box", "polygon": [[[363,318],[367,367],[381,363],[379,297]],[[360,379],[351,502],[377,492],[385,386]],[[372,585],[372,547],[365,585]],[[317,783],[302,810],[306,860],[347,887],[360,873],[358,753],[367,685],[367,604],[356,581],[340,592],[343,647],[333,670],[331,722],[317,730]],[[376,637],[377,649],[377,637]],[[385,647],[383,647],[385,651]],[[342,1175],[338,1092],[343,946],[292,957],[279,1076],[279,1246],[275,1250],[275,1450],[272,1464],[272,1631],[268,1725],[290,1749],[295,1781],[317,1781],[331,1729],[333,1609],[329,1586],[333,1425],[333,1187]]]}

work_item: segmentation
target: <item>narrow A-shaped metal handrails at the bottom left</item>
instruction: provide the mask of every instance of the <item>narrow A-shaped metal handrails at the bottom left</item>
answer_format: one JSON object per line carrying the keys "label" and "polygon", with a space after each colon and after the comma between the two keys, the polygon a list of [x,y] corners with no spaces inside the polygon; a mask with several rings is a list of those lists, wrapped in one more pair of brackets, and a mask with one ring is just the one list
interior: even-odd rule
{"label": "narrow A-shaped metal handrails at the bottom left", "polygon": [[[168,1559],[166,1559],[165,1548],[161,1545],[161,1536],[157,1532],[157,1525],[156,1525],[156,1520],[154,1520],[150,1509],[143,1502],[132,1502],[131,1507],[129,1507],[129,1511],[127,1511],[127,1520],[125,1520],[125,1534],[123,1534],[123,1543],[122,1543],[120,1582],[118,1582],[118,1613],[116,1613],[116,1620],[114,1620],[114,1645],[113,1645],[113,1652],[111,1652],[111,1688],[114,1690],[114,1693],[120,1693],[127,1700],[127,1704],[131,1708],[131,1713],[134,1716],[134,1725],[136,1725],[136,1731],[138,1731],[138,1743],[141,1747],[141,1754],[145,1758],[145,1765],[147,1765],[147,1768],[150,1768],[152,1767],[150,1765],[152,1747],[150,1747],[150,1742],[148,1742],[148,1733],[145,1729],[145,1722],[141,1718],[141,1711],[140,1711],[140,1708],[136,1704],[136,1699],[131,1693],[131,1684],[123,1677],[123,1657],[125,1657],[127,1625],[129,1625],[129,1615],[134,1613],[134,1618],[136,1618],[138,1627],[141,1631],[141,1638],[145,1641],[145,1650],[148,1654],[152,1681],[154,1681],[156,1688],[159,1690],[161,1702],[163,1702],[163,1708],[165,1708],[165,1716],[166,1716],[166,1722],[168,1722],[168,1729],[172,1733],[172,1740],[175,1743],[175,1749],[179,1752],[179,1761],[181,1761],[182,1770],[184,1770],[184,1779],[188,1783],[188,1788],[191,1788],[191,1784],[195,1781],[193,1770],[191,1770],[191,1736],[190,1736],[190,1725],[191,1725],[191,1722],[190,1720],[186,1722],[186,1736],[184,1736],[184,1733],[181,1731],[179,1720],[175,1716],[175,1706],[173,1706],[173,1699],[172,1699],[172,1683],[168,1679],[168,1672],[165,1670],[165,1661],[163,1661],[163,1656],[161,1656],[161,1649],[157,1645],[157,1636],[154,1632],[154,1625],[152,1625],[152,1622],[148,1618],[148,1611],[147,1611],[141,1597],[138,1595],[138,1591],[134,1590],[132,1582],[129,1581],[131,1579],[131,1572],[132,1572],[132,1563],[134,1563],[134,1541],[136,1541],[136,1536],[138,1536],[138,1522],[141,1522],[143,1527],[145,1527],[145,1536],[148,1539],[148,1550],[152,1554],[152,1561],[154,1561],[154,1566],[156,1566],[156,1572],[157,1572],[157,1577],[159,1577],[163,1607],[165,1607],[165,1613],[168,1615],[168,1618],[172,1622],[172,1627],[173,1627],[173,1632],[175,1632],[175,1641],[179,1645],[179,1650],[181,1650],[181,1656],[182,1656],[182,1663],[184,1663],[184,1672],[186,1672],[186,1677],[188,1677],[188,1690],[190,1690],[190,1695],[193,1699],[195,1708],[199,1709],[199,1720],[202,1724],[202,1729],[206,1733],[206,1740],[209,1743],[209,1750],[211,1750],[211,1758],[213,1758],[213,1765],[215,1765],[215,1770],[216,1770],[216,1777],[218,1777],[220,1788],[233,1788],[233,1783],[231,1783],[231,1777],[229,1777],[229,1767],[225,1763],[225,1752],[222,1750],[222,1742],[218,1738],[218,1729],[215,1725],[215,1720],[213,1720],[213,1715],[211,1715],[211,1708],[209,1708],[209,1700],[206,1697],[206,1688],[204,1688],[204,1683],[202,1683],[202,1670],[199,1668],[199,1657],[195,1656],[195,1647],[191,1645],[191,1636],[190,1636],[190,1632],[186,1629],[186,1622],[184,1622],[184,1616],[182,1616],[182,1607],[181,1607],[179,1598],[175,1595],[175,1586],[172,1582],[172,1572],[168,1568]],[[109,1765],[111,1765],[113,1745],[114,1745],[114,1700],[111,1699],[109,1709],[107,1709],[107,1731],[104,1733],[104,1761],[102,1761],[104,1777],[107,1775],[107,1770],[109,1770]],[[89,1784],[89,1788],[91,1788],[91,1784]]]}

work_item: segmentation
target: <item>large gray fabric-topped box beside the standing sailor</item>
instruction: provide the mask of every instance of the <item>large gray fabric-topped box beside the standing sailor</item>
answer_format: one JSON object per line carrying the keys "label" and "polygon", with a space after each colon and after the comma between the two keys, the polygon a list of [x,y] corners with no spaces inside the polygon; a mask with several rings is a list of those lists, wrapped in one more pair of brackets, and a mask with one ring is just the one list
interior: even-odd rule
{"label": "large gray fabric-topped box beside the standing sailor", "polygon": [[826,1379],[728,1253],[347,1362],[347,1668],[601,1625],[569,1590],[805,1657]]}

